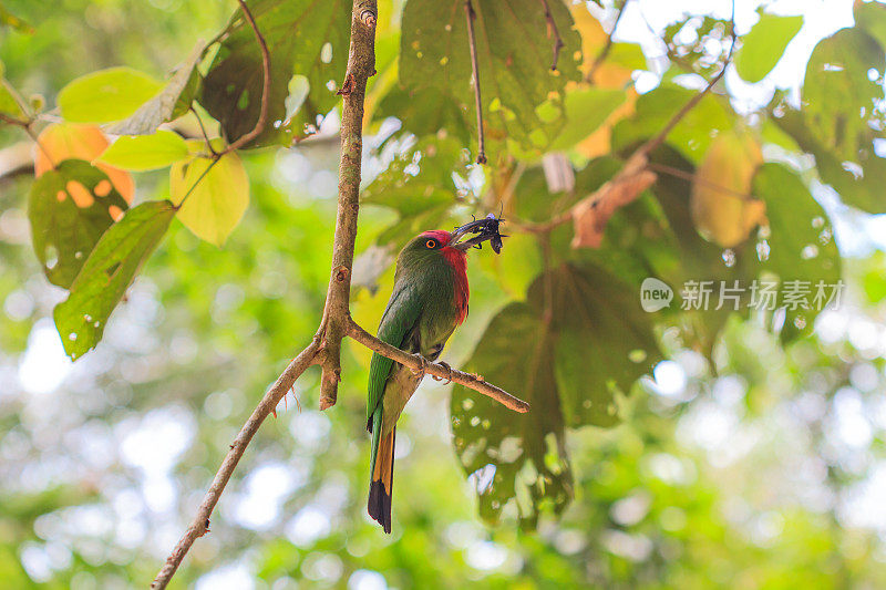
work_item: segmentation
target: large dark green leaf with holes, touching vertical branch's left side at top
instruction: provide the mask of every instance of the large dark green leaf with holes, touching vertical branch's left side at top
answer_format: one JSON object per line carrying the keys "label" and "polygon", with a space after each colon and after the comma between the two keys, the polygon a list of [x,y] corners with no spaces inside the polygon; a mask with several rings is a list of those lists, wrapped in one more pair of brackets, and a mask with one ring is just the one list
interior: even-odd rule
{"label": "large dark green leaf with holes, touching vertical branch's left side at top", "polygon": [[[247,2],[270,52],[270,95],[264,133],[250,147],[288,145],[316,127],[338,102],[344,83],[351,2],[253,0]],[[203,83],[199,102],[222,123],[229,142],[250,132],[261,112],[261,51],[235,13]],[[298,76],[295,79],[293,76]],[[308,84],[307,93],[305,83]],[[289,100],[288,100],[289,99]],[[300,104],[296,104],[301,101]],[[288,104],[287,104],[288,103]]]}

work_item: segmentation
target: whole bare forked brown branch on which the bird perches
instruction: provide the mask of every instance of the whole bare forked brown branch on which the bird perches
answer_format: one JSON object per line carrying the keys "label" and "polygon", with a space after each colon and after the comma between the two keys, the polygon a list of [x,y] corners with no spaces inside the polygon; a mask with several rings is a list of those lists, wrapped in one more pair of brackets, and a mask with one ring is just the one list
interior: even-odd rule
{"label": "whole bare forked brown branch on which the bird perches", "polygon": [[[354,0],[351,18],[348,75],[340,91],[344,96],[344,104],[342,106],[339,201],[332,252],[332,276],[329,280],[320,328],[311,343],[289,363],[274,385],[265,393],[249,420],[244,424],[213,478],[209,490],[197,509],[197,515],[151,584],[155,590],[166,588],[194,542],[209,531],[209,518],[240,457],[243,457],[261,423],[268,417],[268,414],[275,411],[277,404],[308,366],[312,364],[321,364],[322,366],[320,408],[324,410],[336,403],[341,374],[341,340],[346,335],[411,369],[421,370],[423,365],[423,370],[426,373],[471,387],[516,412],[527,412],[529,408],[526,402],[487,383],[478,375],[451,369],[443,363],[422,362],[413,354],[381,342],[351,319],[349,296],[354,240],[357,237],[357,216],[360,205],[363,99],[367,80],[374,73],[377,18],[378,8],[374,0]],[[251,18],[249,20],[253,22]],[[258,34],[257,30],[256,33]],[[258,134],[255,135],[257,136]]]}

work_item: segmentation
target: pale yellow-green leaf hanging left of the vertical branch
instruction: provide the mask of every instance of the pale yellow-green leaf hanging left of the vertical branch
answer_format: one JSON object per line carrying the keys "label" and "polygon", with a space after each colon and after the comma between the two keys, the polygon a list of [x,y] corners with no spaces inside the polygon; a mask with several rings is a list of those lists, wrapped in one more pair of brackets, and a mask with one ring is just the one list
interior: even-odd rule
{"label": "pale yellow-green leaf hanging left of the vertical branch", "polygon": [[173,165],[169,193],[174,204],[182,204],[178,220],[197,237],[222,246],[249,205],[249,177],[236,153],[215,164],[198,157]]}

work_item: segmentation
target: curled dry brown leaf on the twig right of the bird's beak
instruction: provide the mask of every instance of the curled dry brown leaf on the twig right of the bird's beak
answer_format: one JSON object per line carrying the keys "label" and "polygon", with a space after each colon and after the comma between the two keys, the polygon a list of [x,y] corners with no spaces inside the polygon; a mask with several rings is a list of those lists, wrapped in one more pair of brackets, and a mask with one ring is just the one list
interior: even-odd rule
{"label": "curled dry brown leaf on the twig right of the bird's beak", "polygon": [[599,248],[609,218],[632,203],[656,182],[643,155],[631,156],[625,167],[590,196],[573,208],[573,248]]}

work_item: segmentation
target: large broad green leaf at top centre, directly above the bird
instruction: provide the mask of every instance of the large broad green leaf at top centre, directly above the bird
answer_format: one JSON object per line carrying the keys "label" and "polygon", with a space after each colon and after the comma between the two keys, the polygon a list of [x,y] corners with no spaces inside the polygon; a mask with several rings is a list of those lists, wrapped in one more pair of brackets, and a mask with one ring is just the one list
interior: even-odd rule
{"label": "large broad green leaf at top centre, directly above the bird", "polygon": [[[564,90],[579,79],[581,41],[562,2],[548,2],[566,46],[552,71],[553,39],[537,0],[474,0],[485,135],[497,146],[540,151],[564,126]],[[442,125],[476,136],[467,20],[463,0],[410,0],[403,9],[400,83],[406,96],[431,101],[404,116],[416,134]],[[539,113],[540,108],[540,113]],[[423,115],[423,116],[416,116]],[[432,116],[426,116],[432,115]]]}

